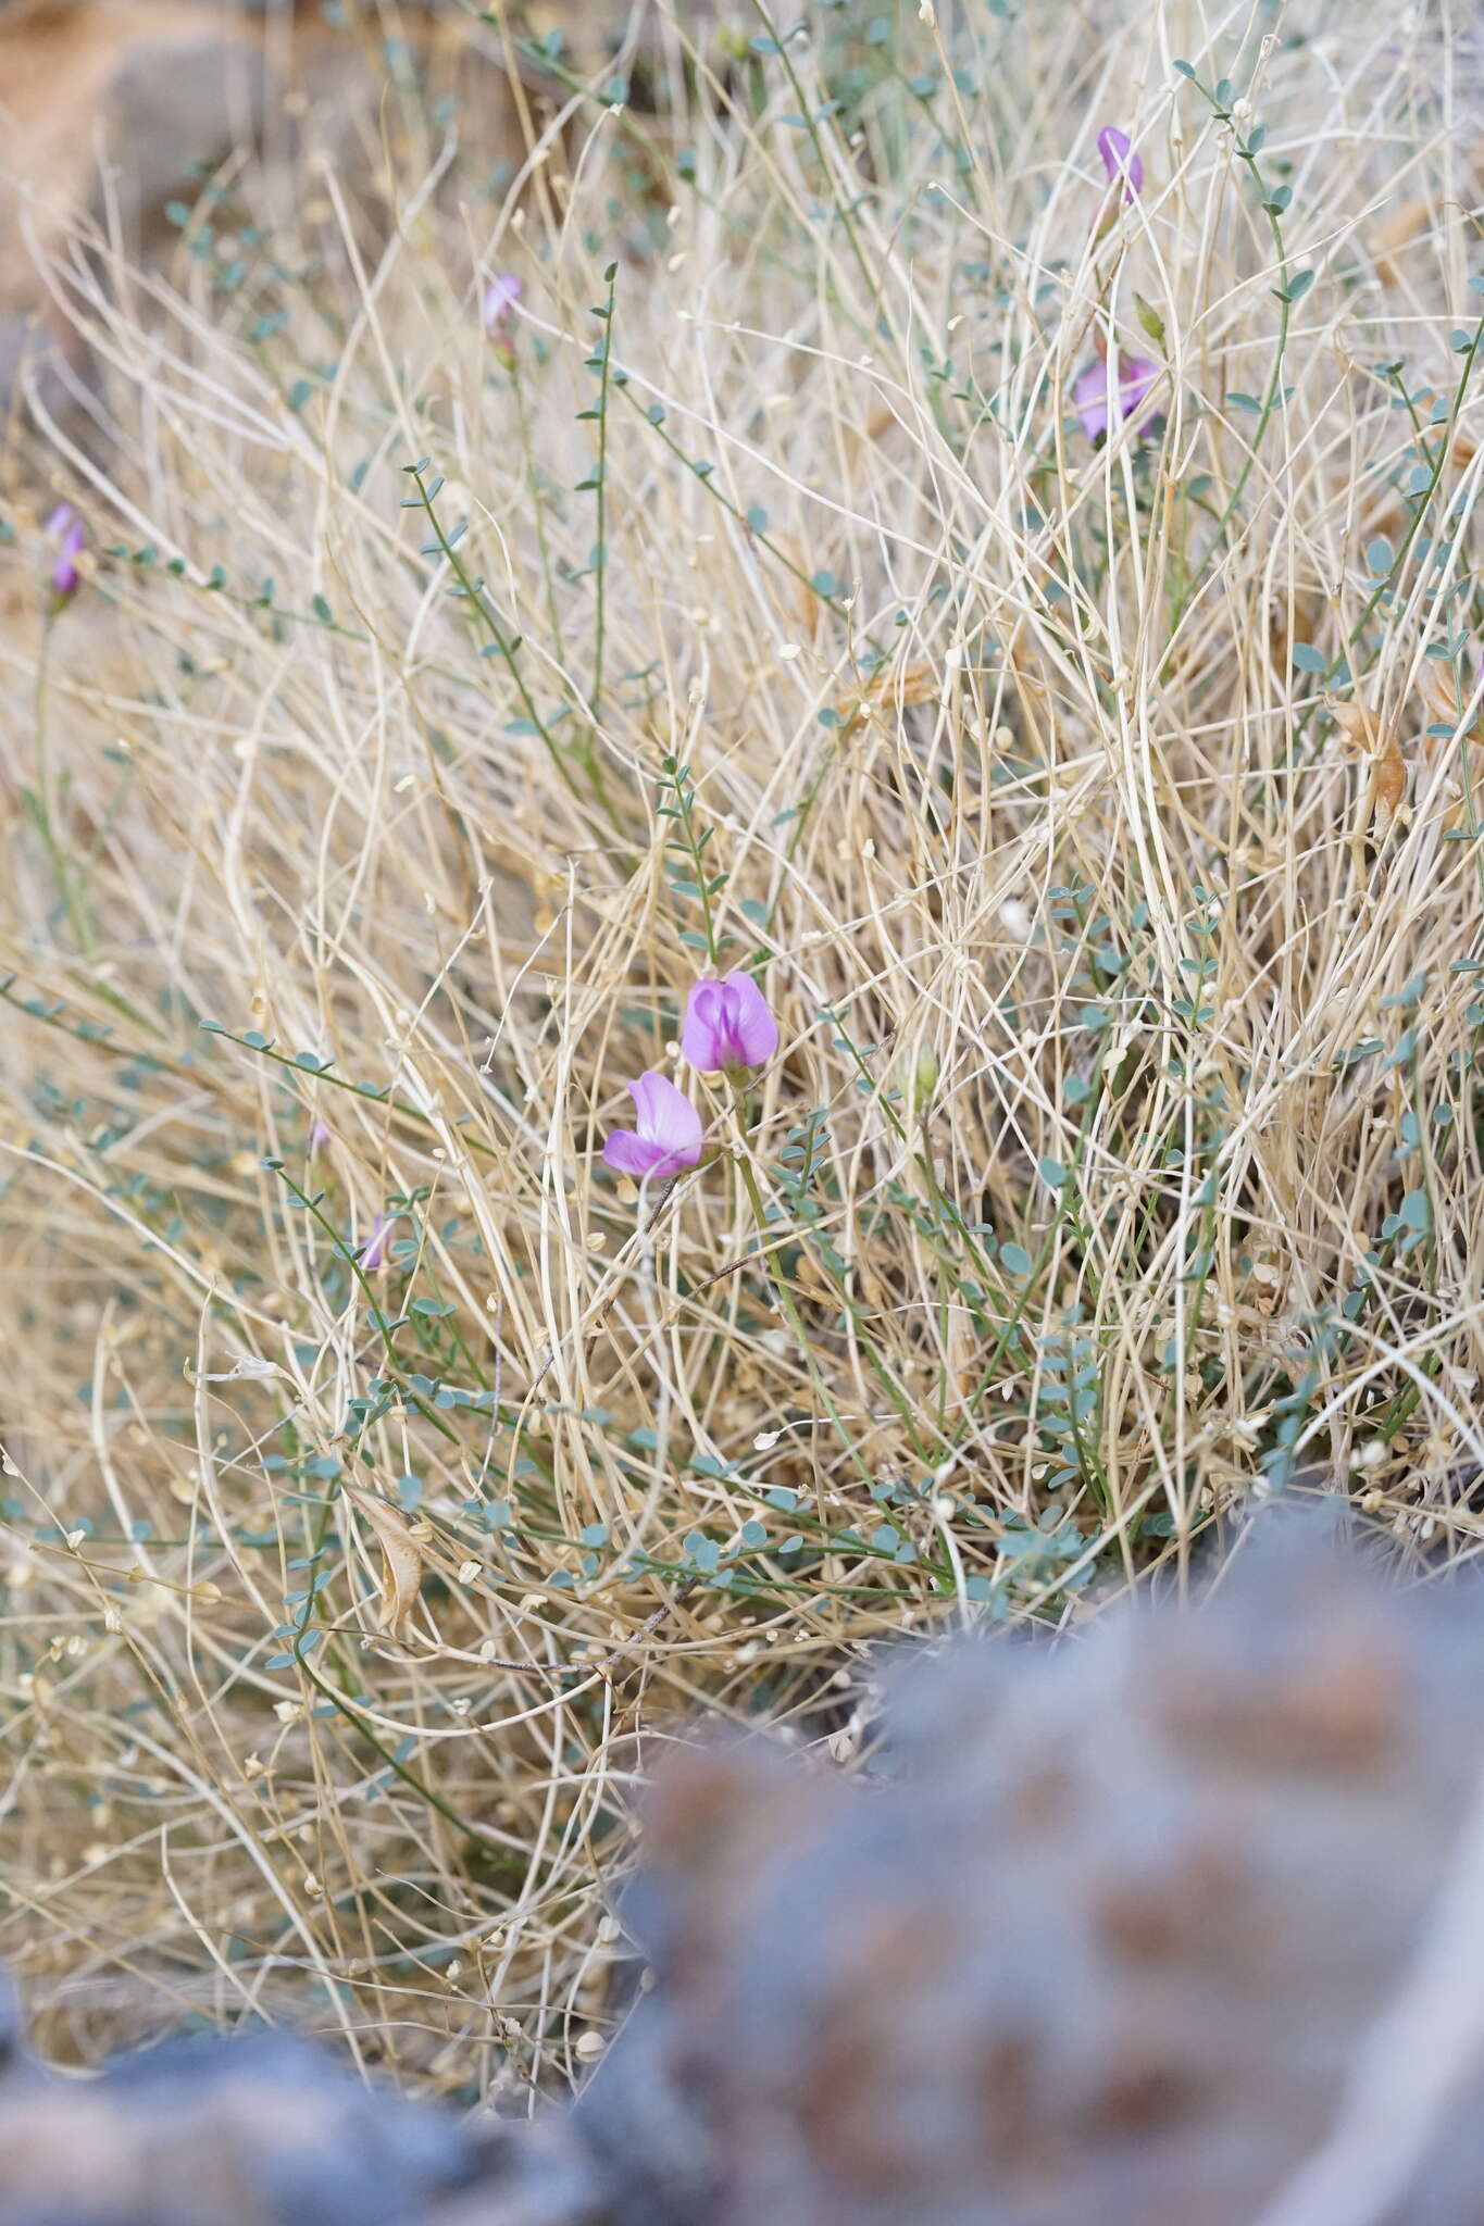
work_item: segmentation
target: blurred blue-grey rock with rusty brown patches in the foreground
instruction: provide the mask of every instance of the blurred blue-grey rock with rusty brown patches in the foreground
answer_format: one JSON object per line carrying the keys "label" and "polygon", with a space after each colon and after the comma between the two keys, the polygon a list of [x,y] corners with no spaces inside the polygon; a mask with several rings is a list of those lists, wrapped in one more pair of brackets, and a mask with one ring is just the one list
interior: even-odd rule
{"label": "blurred blue-grey rock with rusty brown patches in the foreground", "polygon": [[1484,1592],[1259,1525],[1195,1612],[901,1663],[872,1776],[681,1752],[654,1986],[487,2135],[300,2043],[0,2081],[0,2226],[1475,2226]]}

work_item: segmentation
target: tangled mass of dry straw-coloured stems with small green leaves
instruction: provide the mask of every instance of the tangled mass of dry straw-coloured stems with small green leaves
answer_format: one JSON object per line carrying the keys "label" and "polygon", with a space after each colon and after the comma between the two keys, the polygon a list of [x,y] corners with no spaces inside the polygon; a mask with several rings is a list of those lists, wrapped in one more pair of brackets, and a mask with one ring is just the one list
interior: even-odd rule
{"label": "tangled mass of dry straw-coloured stems with small green leaves", "polygon": [[[845,1756],[865,1643],[1295,1462],[1484,1534],[1480,62],[872,13],[492,191],[409,127],[278,278],[231,183],[169,283],[58,274],[116,434],[31,450],[80,597],[40,494],[0,552],[0,1952],[62,2052],[296,2006],[554,2079],[679,1712]],[[1104,450],[1097,334],[1161,361]],[[716,955],[783,1053],[636,1200]]]}

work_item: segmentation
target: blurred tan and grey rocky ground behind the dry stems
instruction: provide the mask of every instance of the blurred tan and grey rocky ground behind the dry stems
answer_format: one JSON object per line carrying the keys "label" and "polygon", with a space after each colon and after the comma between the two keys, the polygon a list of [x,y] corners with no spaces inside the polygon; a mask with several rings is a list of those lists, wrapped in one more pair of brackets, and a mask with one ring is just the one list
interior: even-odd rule
{"label": "blurred tan and grey rocky ground behind the dry stems", "polygon": [[[699,29],[710,0],[683,13]],[[165,211],[178,196],[247,154],[267,151],[271,171],[296,138],[354,176],[400,73],[429,107],[474,91],[463,118],[518,154],[523,38],[561,38],[583,73],[654,24],[627,0],[516,0],[485,20],[445,4],[0,0],[0,407],[22,403],[27,370],[51,410],[87,381],[58,258],[149,263],[176,238]]]}

